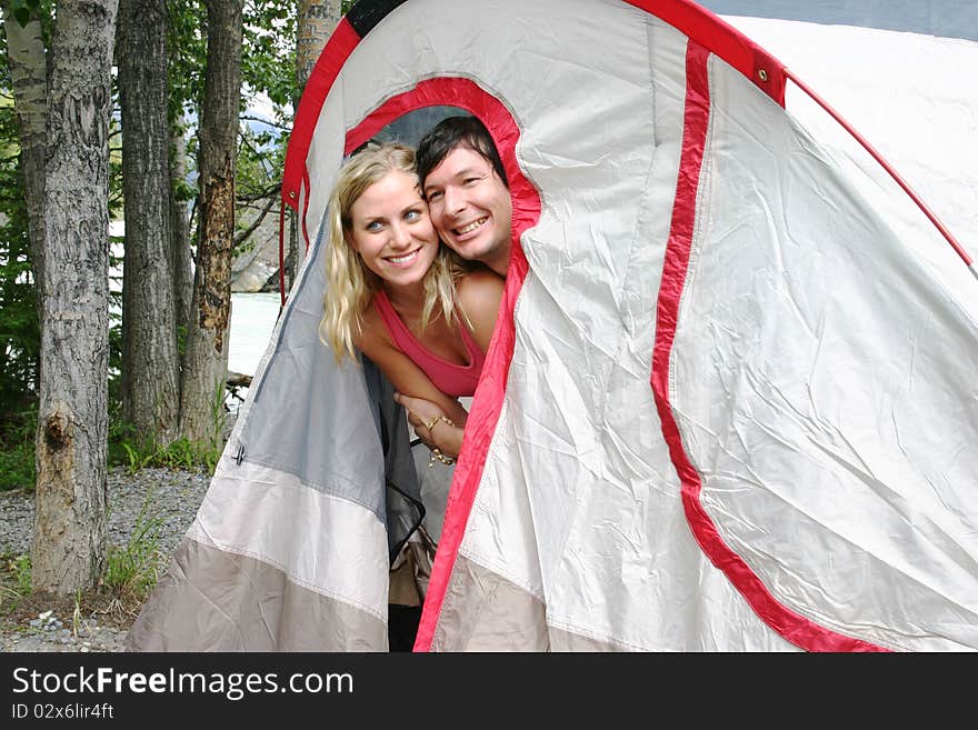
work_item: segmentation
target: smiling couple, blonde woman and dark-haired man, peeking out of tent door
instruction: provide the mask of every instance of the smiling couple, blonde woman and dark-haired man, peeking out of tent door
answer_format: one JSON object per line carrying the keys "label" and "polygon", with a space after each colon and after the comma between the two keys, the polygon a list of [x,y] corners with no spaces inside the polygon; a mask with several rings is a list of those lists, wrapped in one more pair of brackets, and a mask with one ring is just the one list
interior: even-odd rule
{"label": "smiling couple, blonde woman and dark-haired man, peeking out of tent door", "polygon": [[338,362],[370,358],[432,461],[452,463],[468,416],[457,399],[475,394],[509,264],[512,203],[495,142],[477,118],[449,117],[417,153],[366,146],[329,209],[320,337]]}

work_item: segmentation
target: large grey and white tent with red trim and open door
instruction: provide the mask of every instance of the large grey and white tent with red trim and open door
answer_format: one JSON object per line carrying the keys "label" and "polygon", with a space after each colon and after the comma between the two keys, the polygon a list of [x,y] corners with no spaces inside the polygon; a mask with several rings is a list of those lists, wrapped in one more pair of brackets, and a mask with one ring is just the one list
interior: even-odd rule
{"label": "large grey and white tent with red trim and open door", "polygon": [[407,437],[317,339],[321,232],[433,104],[493,133],[519,240],[416,650],[978,648],[978,282],[784,81],[689,2],[358,3],[289,147],[312,248],[130,648],[386,648]]}

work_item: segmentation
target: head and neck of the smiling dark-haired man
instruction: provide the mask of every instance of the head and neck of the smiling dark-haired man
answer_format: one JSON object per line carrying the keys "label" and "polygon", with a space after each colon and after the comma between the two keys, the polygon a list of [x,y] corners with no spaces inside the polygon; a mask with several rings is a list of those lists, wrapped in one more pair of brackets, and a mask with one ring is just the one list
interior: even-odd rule
{"label": "head and neck of the smiling dark-haired man", "polygon": [[475,117],[448,117],[418,144],[418,178],[431,222],[463,259],[506,277],[512,200],[496,143]]}

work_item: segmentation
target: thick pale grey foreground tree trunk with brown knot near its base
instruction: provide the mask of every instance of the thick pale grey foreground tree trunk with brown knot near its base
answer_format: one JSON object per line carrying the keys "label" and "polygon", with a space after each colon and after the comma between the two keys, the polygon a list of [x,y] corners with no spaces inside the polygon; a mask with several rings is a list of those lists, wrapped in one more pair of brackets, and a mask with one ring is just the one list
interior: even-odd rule
{"label": "thick pale grey foreground tree trunk with brown knot near its base", "polygon": [[33,587],[94,586],[106,559],[109,111],[117,0],[62,0],[51,44]]}

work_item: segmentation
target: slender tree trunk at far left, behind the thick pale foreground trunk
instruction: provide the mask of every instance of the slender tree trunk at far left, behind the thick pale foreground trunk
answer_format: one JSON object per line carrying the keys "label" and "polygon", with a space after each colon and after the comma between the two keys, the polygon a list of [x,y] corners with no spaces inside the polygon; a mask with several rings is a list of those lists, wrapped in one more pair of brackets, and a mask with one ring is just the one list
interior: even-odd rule
{"label": "slender tree trunk at far left, behind the thick pale foreground trunk", "polygon": [[13,108],[20,134],[20,168],[27,203],[28,237],[31,267],[38,292],[38,316],[44,291],[44,120],[48,106],[47,58],[41,22],[31,12],[27,26],[10,16],[10,2],[3,2],[3,27],[7,31],[7,64],[13,86]]}

